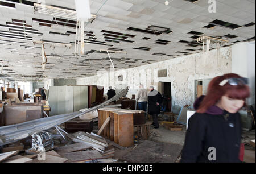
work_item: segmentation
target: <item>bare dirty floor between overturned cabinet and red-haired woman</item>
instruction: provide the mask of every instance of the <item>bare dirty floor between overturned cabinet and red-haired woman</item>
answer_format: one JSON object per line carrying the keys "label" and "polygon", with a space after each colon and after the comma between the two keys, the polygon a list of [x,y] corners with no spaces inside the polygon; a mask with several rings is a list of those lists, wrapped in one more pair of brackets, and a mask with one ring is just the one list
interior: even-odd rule
{"label": "bare dirty floor between overturned cabinet and red-haired woman", "polygon": [[153,135],[148,140],[139,140],[138,145],[125,150],[115,148],[113,159],[131,163],[174,163],[183,148],[185,127],[183,131],[170,131],[161,125],[159,129],[154,126],[150,129]]}

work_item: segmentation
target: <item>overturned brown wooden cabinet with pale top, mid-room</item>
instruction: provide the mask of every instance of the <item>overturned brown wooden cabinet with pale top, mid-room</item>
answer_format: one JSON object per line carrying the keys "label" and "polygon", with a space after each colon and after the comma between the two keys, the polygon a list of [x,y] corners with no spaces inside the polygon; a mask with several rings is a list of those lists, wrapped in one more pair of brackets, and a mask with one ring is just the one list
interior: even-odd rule
{"label": "overturned brown wooden cabinet with pale top, mid-room", "polygon": [[120,146],[133,146],[134,120],[137,122],[134,117],[144,117],[144,111],[108,107],[98,109],[98,133]]}

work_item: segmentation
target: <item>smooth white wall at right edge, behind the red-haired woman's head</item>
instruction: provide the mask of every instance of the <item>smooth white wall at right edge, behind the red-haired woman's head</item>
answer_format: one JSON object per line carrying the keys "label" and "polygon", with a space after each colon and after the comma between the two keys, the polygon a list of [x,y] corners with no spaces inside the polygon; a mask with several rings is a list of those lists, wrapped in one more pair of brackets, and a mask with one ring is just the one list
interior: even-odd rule
{"label": "smooth white wall at right edge, behind the red-haired woman's head", "polygon": [[255,104],[255,41],[232,45],[232,72],[249,78],[248,104]]}

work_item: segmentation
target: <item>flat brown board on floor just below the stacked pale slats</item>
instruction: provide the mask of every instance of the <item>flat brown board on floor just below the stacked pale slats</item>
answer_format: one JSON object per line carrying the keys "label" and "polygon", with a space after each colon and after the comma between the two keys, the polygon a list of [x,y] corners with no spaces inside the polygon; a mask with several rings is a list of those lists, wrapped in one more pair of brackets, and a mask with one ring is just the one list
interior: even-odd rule
{"label": "flat brown board on floor just below the stacked pale slats", "polygon": [[80,151],[80,152],[70,152],[63,154],[65,158],[68,158],[70,161],[83,161],[83,160],[93,160],[100,159],[102,155],[96,150],[92,151]]}

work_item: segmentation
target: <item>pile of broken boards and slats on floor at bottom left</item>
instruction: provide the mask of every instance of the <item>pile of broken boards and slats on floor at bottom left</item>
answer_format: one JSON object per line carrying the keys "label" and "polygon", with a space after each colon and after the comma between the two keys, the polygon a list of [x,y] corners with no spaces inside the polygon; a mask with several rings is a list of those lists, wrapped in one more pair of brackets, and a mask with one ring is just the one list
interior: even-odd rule
{"label": "pile of broken boards and slats on floor at bottom left", "polygon": [[[36,136],[36,135],[35,135]],[[24,150],[24,146],[6,147],[0,154],[3,163],[115,163],[115,149],[104,138],[93,132],[75,132],[68,134],[67,145],[49,147],[47,152],[32,153],[31,149]],[[33,141],[33,140],[32,140]],[[33,143],[32,143],[33,144]],[[42,144],[42,143],[41,143]],[[36,146],[36,141],[34,146]],[[15,151],[14,151],[15,150]],[[6,152],[8,151],[8,152]]]}

